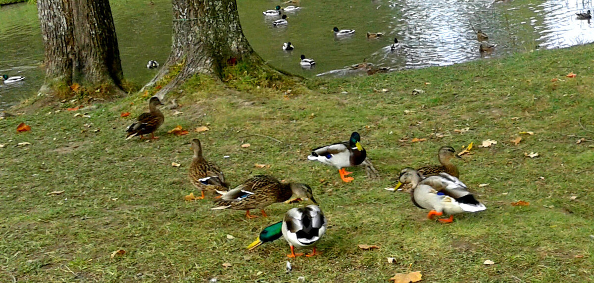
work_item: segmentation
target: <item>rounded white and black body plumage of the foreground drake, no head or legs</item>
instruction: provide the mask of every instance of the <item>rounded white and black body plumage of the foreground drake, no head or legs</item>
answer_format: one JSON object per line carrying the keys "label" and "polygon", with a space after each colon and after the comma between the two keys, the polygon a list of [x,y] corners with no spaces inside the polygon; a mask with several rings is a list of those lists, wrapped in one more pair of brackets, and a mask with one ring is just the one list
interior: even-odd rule
{"label": "rounded white and black body plumage of the foreground drake, no head or legs", "polygon": [[287,240],[293,244],[311,245],[326,232],[326,217],[317,205],[290,209],[283,221]]}

